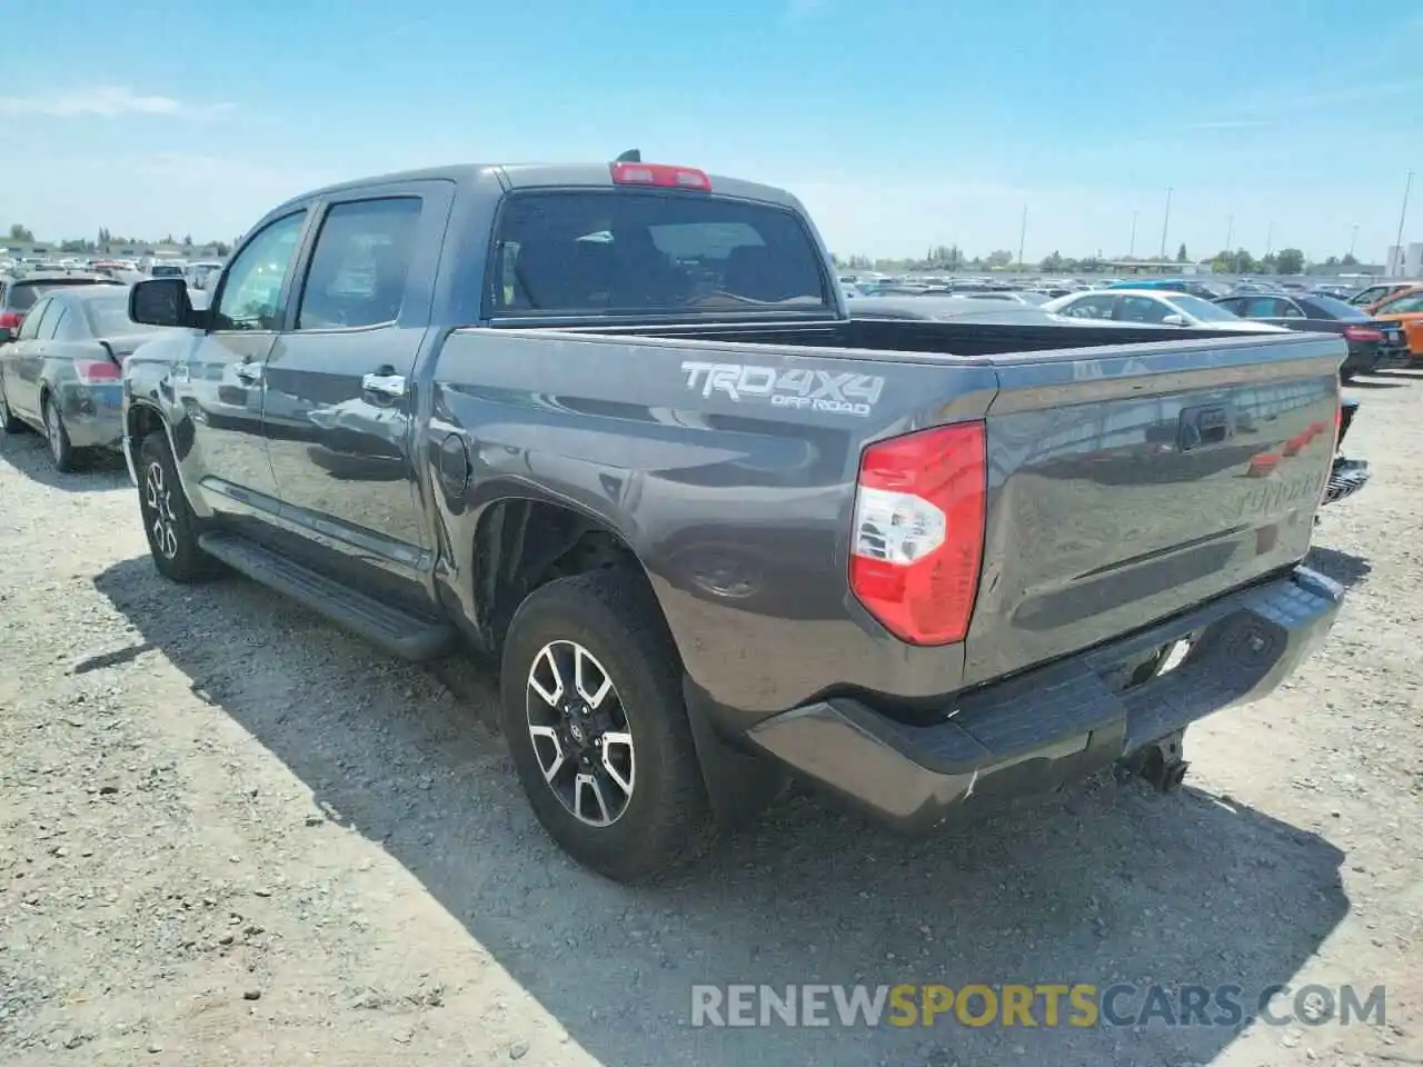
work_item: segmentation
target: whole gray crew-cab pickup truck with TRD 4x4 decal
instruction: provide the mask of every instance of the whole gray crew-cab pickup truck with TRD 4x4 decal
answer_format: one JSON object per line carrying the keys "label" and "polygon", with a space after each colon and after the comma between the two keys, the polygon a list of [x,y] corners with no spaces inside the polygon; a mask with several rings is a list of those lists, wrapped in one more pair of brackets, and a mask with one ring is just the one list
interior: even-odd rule
{"label": "whole gray crew-cab pickup truck with TRD 4x4 decal", "polygon": [[851,317],[790,195],[669,165],[299,196],[124,371],[165,578],[498,656],[548,832],[636,879],[798,778],[926,831],[1188,724],[1331,627],[1338,337]]}

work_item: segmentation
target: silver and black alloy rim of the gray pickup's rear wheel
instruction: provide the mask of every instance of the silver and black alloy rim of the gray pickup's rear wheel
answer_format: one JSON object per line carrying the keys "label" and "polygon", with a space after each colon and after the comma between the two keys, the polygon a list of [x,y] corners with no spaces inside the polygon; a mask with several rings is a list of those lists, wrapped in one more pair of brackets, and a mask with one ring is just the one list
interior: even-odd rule
{"label": "silver and black alloy rim of the gray pickup's rear wheel", "polygon": [[528,673],[528,730],[544,781],[589,827],[610,827],[636,784],[632,726],[613,680],[576,642],[549,642]]}

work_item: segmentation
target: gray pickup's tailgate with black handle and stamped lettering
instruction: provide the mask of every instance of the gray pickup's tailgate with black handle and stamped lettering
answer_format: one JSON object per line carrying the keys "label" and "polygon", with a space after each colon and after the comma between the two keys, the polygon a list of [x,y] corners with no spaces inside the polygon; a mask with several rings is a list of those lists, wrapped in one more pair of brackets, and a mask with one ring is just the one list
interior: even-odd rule
{"label": "gray pickup's tailgate with black handle and stamped lettering", "polygon": [[1329,475],[1339,339],[995,357],[975,684],[1299,561]]}

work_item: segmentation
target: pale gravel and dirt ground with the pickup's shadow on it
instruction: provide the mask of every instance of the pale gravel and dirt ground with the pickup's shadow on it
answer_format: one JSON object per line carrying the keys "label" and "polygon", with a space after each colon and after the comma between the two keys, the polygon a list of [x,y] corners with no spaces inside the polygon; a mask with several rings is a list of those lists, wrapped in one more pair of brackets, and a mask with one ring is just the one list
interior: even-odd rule
{"label": "pale gravel and dirt ground with the pickup's shadow on it", "polygon": [[[1414,376],[1417,377],[1417,376]],[[470,670],[240,580],[179,590],[121,468],[0,457],[7,1064],[1423,1063],[1423,381],[1362,383],[1350,586],[1188,788],[1087,782],[926,844],[794,798],[656,889],[539,832]],[[1387,986],[1387,1023],[689,1026],[692,983]]]}

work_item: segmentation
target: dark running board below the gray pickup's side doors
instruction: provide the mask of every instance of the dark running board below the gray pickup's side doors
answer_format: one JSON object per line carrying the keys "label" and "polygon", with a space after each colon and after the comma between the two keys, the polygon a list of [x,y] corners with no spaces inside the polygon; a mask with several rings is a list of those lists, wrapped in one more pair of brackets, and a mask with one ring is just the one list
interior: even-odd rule
{"label": "dark running board below the gray pickup's side doors", "polygon": [[240,535],[213,531],[198,543],[213,559],[324,615],[391,656],[433,660],[455,643],[454,626],[380,603]]}

